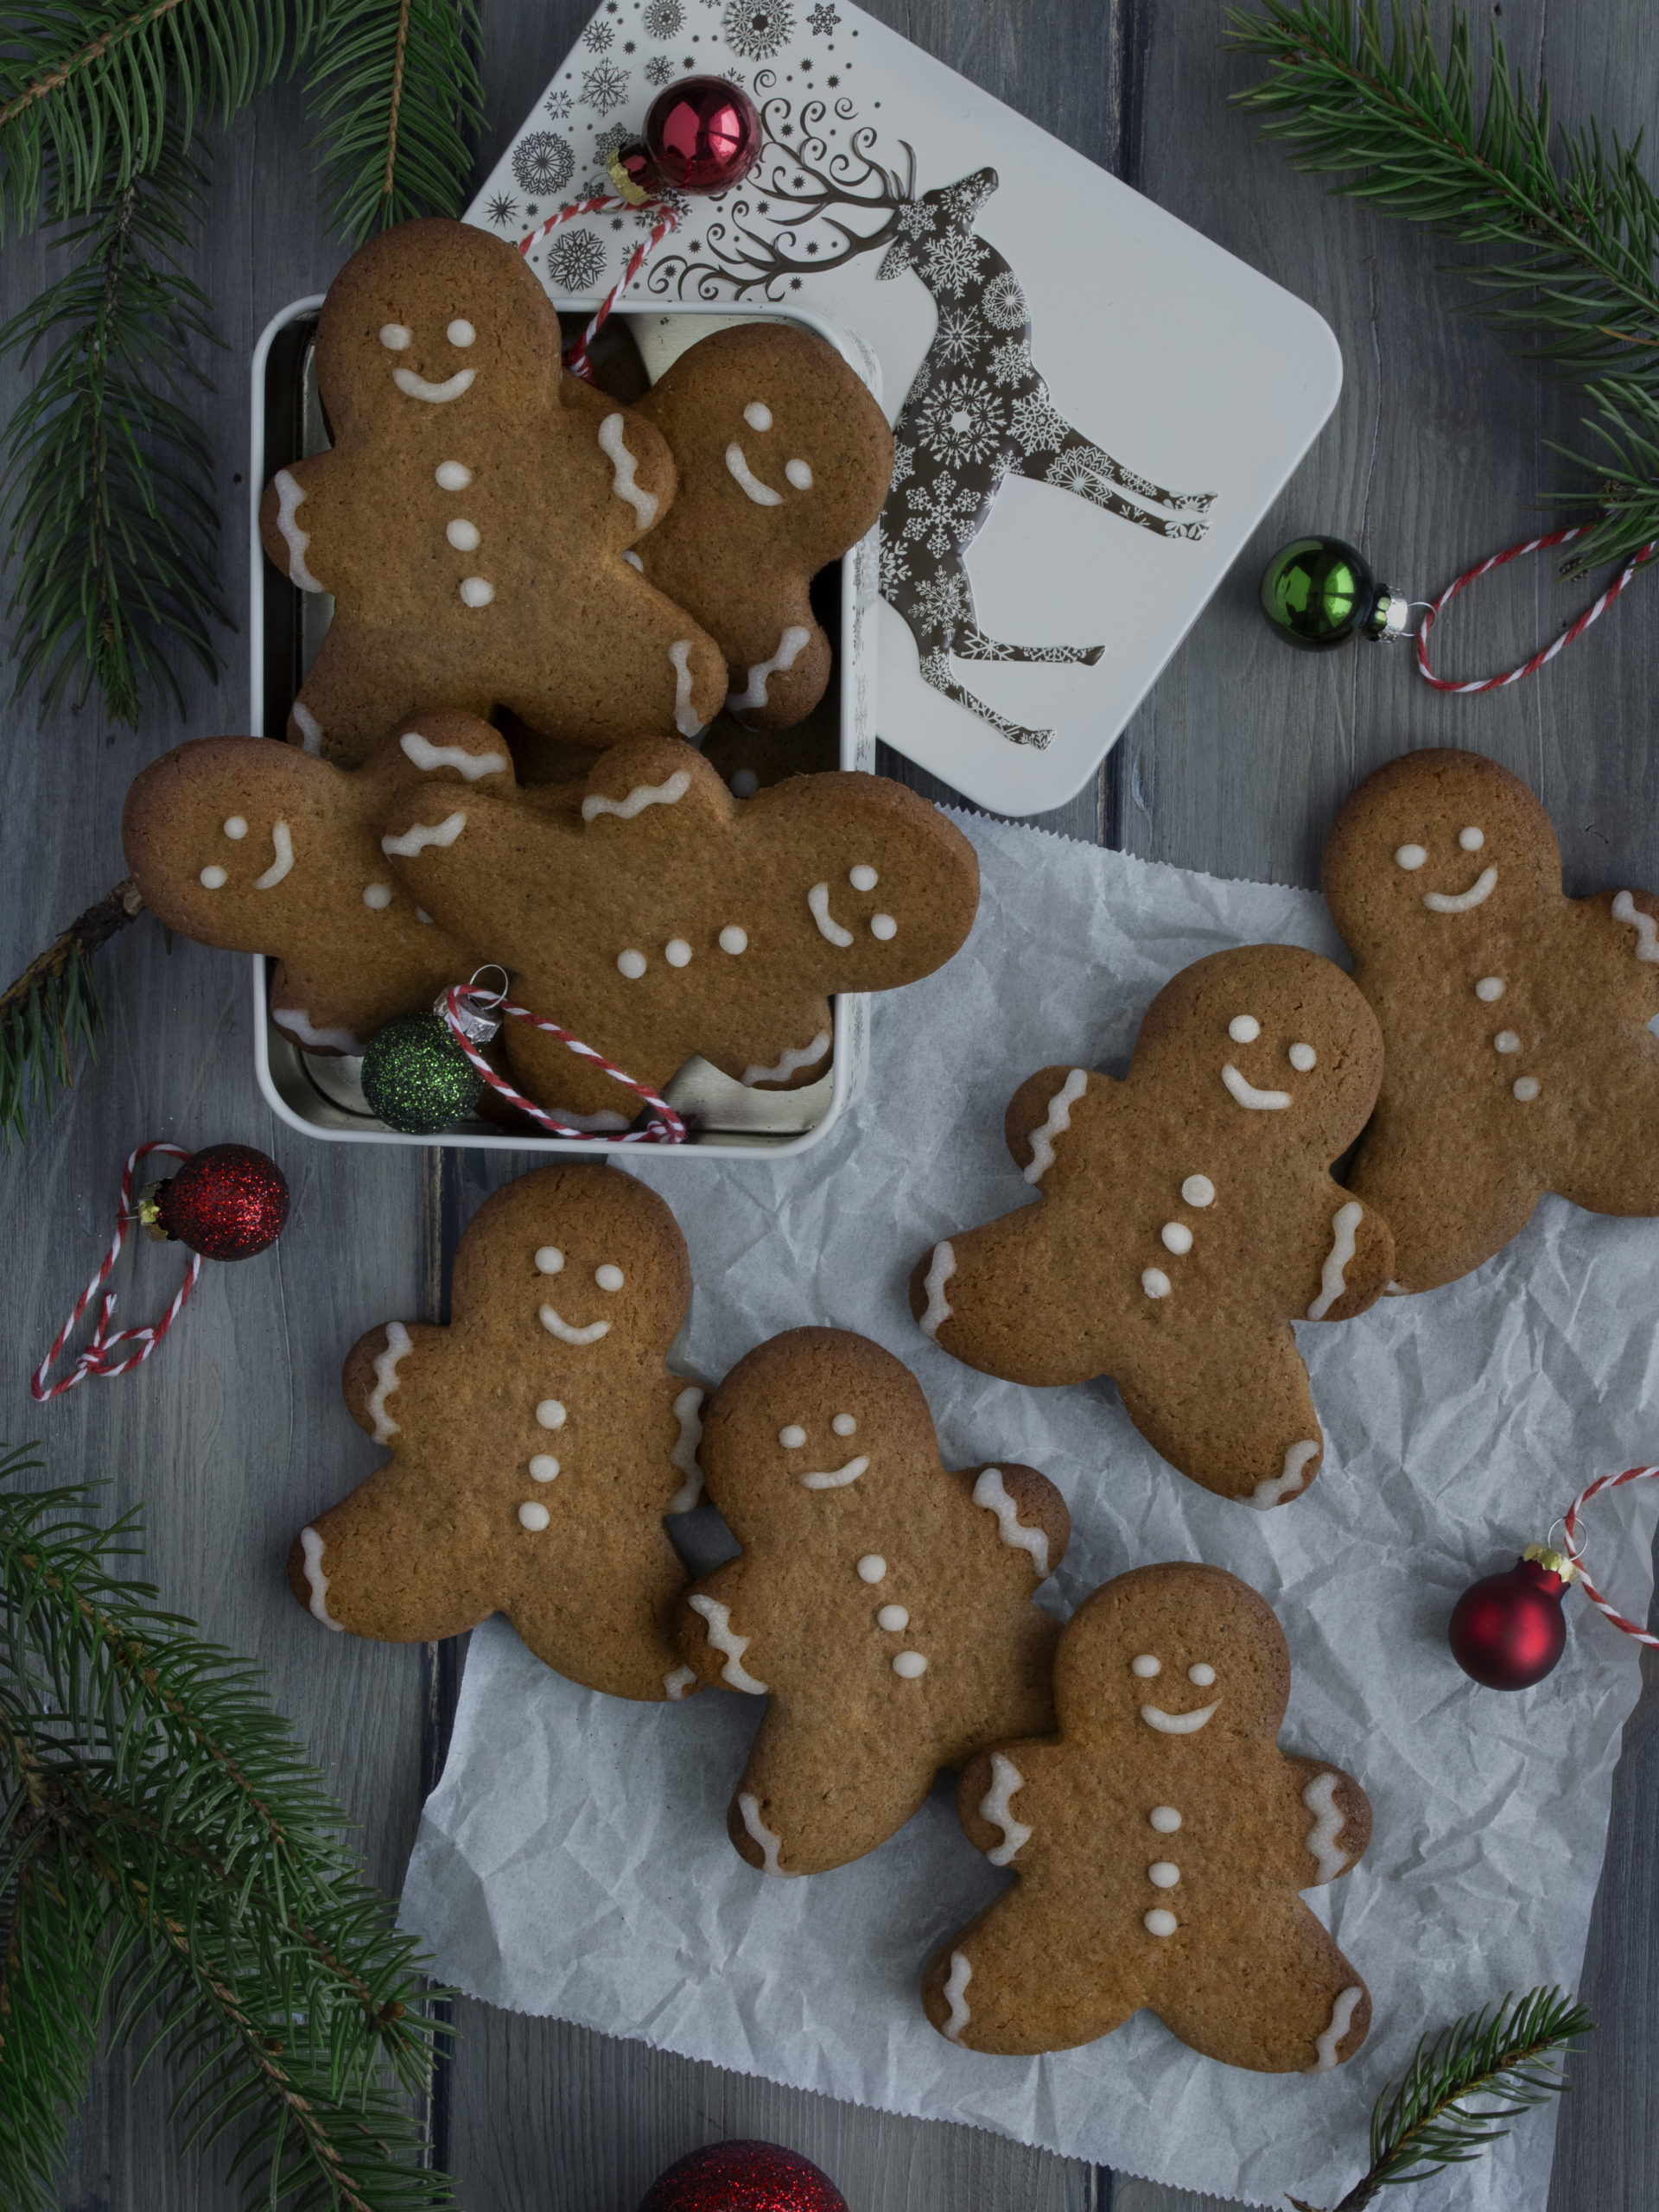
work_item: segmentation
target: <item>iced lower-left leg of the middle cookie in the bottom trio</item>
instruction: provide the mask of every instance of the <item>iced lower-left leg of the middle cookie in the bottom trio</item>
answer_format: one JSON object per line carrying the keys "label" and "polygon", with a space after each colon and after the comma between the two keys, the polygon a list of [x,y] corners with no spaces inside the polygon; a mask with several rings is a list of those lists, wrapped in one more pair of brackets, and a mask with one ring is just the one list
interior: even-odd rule
{"label": "iced lower-left leg of the middle cookie in the bottom trio", "polygon": [[814,1714],[776,1705],[761,1721],[743,1776],[732,1792],[726,1832],[752,1867],[768,1874],[823,1874],[847,1863],[847,1807],[869,1838],[860,1851],[896,1834],[920,1809],[936,1759],[916,1745],[896,1754],[891,1741],[865,1734],[845,1708]]}

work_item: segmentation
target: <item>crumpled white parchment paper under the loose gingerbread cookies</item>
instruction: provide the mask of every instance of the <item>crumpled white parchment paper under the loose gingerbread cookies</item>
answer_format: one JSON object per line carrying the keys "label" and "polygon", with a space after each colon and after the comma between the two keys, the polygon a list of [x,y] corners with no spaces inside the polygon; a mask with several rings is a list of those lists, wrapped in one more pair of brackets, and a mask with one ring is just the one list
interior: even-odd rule
{"label": "crumpled white parchment paper under the loose gingerbread cookies", "polygon": [[[1652,1453],[1659,1223],[1546,1199],[1480,1274],[1301,1327],[1327,1458],[1274,1513],[1172,1473],[1110,1383],[1037,1391],[956,1365],[916,1329],[905,1283],[938,1237],[1029,1199],[1002,1144],[1015,1086],[1053,1062],[1121,1073],[1155,991],[1219,947],[1343,958],[1310,891],[962,827],[984,869],[973,938],[938,975],[874,1000],[869,1082],[823,1144],[779,1164],[628,1161],[690,1243],[684,1365],[717,1378],[779,1329],[860,1329],[922,1380],[947,1464],[1006,1455],[1062,1486],[1073,1542],[1042,1593],[1055,1610],[1150,1559],[1208,1559],[1254,1584],[1290,1637],[1283,1745],[1349,1767],[1376,1812],[1360,1867],[1307,1893],[1371,1989],[1369,2042],[1321,2077],[1217,2066],[1150,2013],[1044,2059],[956,2051],[927,2026],[916,1980],[1006,1876],[956,1825],[949,1778],[878,1854],[770,1880],[723,1827],[759,1699],[595,1697],[500,1619],[471,1641],[403,1922],[442,1980],[491,2004],[1188,2190],[1329,2205],[1425,2028],[1579,1973],[1637,1646],[1573,1595],[1562,1666],[1504,1697],[1458,1672],[1444,1624],[1584,1482]],[[1639,1619],[1657,1489],[1590,1509],[1593,1571]],[[1544,2212],[1553,2126],[1522,2119],[1413,2208]]]}

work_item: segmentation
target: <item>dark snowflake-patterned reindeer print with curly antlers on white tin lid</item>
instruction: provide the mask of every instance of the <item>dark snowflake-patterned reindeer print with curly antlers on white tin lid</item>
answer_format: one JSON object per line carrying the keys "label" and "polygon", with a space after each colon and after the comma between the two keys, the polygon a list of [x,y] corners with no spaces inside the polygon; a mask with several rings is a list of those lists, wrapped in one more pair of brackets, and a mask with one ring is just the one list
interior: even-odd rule
{"label": "dark snowflake-patterned reindeer print with curly antlers on white tin lid", "polygon": [[[772,106],[765,108],[774,135]],[[1042,748],[1051,730],[1029,730],[978,699],[951,675],[964,661],[1082,661],[1093,666],[1106,646],[1013,646],[989,637],[973,611],[962,555],[984,529],[998,491],[1011,476],[1026,476],[1159,538],[1203,538],[1208,524],[1181,520],[1206,513],[1212,491],[1166,491],[1135,476],[1113,453],[1075,429],[1048,396],[1031,358],[1031,314],[1020,279],[973,223],[1000,179],[978,168],[936,192],[916,192],[916,155],[907,173],[883,168],[869,155],[874,131],[856,133],[847,155],[814,166],[821,139],[805,139],[774,161],[763,199],[737,201],[730,226],[712,226],[714,263],[668,257],[650,290],[695,279],[697,296],[717,296],[730,283],[737,299],[763,292],[781,301],[781,285],[823,274],[885,248],[878,281],[905,270],[933,294],[938,327],[894,425],[894,482],[880,513],[880,595],[905,617],[920,655],[922,679],[989,721],[1015,745]],[[810,153],[812,148],[812,153]],[[885,219],[858,230],[841,210],[867,208]],[[772,234],[754,228],[765,215]],[[1166,509],[1157,513],[1155,509]]]}

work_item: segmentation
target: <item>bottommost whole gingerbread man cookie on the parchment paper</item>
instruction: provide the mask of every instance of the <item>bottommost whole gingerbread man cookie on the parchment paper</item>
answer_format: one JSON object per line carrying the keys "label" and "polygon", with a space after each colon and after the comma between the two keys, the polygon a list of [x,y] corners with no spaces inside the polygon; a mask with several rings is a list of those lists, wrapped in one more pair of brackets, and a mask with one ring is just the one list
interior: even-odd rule
{"label": "bottommost whole gingerbread man cookie on the parchment paper", "polygon": [[1060,1736],[962,1772],[969,1838],[1018,1880],[922,1975],[967,2051],[1071,2051],[1148,2006],[1256,2073],[1352,2059],[1371,2000],[1296,1896],[1371,1840],[1360,1785],[1276,1747],[1290,1655],[1219,1566],[1141,1566],[1086,1597],[1055,1657]]}

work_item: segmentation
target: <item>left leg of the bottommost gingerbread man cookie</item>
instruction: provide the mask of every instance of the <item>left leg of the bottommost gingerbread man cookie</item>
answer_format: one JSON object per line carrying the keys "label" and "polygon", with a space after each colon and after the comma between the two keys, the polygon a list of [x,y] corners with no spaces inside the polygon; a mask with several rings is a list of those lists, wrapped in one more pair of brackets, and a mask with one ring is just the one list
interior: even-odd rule
{"label": "left leg of the bottommost gingerbread man cookie", "polygon": [[[1150,1938],[1148,1938],[1150,1940]],[[1077,1953],[1077,1900],[1044,1896],[1040,1874],[1004,1889],[922,1973],[922,2011],[967,2051],[1031,2057],[1073,2051],[1121,2028],[1148,2002],[1137,1944]]]}

